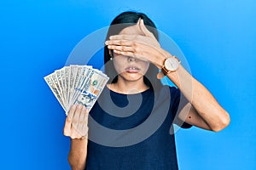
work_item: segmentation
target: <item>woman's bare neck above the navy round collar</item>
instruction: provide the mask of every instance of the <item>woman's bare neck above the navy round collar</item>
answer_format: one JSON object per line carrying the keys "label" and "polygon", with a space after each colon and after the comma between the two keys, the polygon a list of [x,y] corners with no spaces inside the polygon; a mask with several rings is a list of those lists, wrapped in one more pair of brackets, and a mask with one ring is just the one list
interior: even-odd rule
{"label": "woman's bare neck above the navy round collar", "polygon": [[108,84],[108,88],[119,94],[138,94],[147,90],[148,86],[143,82],[143,78],[134,82],[119,78],[118,82]]}

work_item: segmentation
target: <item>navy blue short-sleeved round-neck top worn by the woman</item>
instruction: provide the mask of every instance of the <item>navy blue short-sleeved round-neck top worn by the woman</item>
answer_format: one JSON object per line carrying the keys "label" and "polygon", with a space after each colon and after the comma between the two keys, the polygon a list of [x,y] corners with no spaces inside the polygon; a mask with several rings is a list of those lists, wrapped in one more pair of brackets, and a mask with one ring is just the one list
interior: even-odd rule
{"label": "navy blue short-sleeved round-neck top worn by the woman", "polygon": [[180,91],[168,86],[128,95],[104,88],[90,111],[85,169],[178,169],[172,127],[179,101]]}

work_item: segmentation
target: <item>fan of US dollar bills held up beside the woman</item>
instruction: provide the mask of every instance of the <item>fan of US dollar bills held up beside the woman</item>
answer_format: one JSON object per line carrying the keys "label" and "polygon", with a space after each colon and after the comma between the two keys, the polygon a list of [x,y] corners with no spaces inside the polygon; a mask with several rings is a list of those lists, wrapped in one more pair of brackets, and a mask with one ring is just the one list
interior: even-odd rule
{"label": "fan of US dollar bills held up beside the woman", "polygon": [[82,104],[90,111],[106,86],[108,76],[90,65],[69,65],[49,74],[44,80],[67,114],[75,104]]}

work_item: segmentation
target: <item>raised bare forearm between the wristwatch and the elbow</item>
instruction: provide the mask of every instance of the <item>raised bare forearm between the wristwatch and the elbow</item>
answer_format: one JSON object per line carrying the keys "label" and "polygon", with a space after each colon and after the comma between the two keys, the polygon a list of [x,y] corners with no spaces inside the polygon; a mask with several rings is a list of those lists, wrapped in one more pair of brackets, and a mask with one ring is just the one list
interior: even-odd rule
{"label": "raised bare forearm between the wristwatch and the elbow", "polygon": [[183,95],[195,108],[213,131],[219,131],[230,122],[229,114],[218,104],[218,101],[205,88],[179,65],[177,71],[167,75],[177,85]]}

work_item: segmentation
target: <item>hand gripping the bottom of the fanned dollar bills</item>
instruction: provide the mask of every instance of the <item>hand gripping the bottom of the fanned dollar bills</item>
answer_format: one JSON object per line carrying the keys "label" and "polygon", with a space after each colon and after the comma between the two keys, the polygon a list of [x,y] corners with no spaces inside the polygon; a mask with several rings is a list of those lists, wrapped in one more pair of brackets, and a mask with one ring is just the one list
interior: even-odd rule
{"label": "hand gripping the bottom of the fanned dollar bills", "polygon": [[72,105],[66,118],[63,133],[71,139],[87,139],[89,112],[84,105]]}

